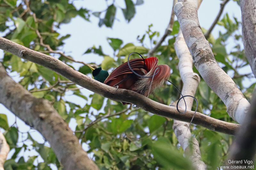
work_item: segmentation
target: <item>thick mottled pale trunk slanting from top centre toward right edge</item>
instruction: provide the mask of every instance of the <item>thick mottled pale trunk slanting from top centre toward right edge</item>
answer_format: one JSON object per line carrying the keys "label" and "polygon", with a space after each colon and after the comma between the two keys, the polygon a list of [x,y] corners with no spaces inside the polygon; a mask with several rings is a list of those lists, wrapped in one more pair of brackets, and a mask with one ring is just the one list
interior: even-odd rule
{"label": "thick mottled pale trunk slanting from top centre toward right edge", "polygon": [[179,0],[174,12],[193,62],[204,81],[220,97],[230,117],[240,124],[250,107],[243,93],[216,62],[209,42],[205,39],[197,16],[197,0]]}

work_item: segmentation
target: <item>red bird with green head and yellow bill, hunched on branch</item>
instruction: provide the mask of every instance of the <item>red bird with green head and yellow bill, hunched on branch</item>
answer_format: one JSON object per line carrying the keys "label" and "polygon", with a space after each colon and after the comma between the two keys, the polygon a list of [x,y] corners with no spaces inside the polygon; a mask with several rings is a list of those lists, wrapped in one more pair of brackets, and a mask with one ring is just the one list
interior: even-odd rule
{"label": "red bird with green head and yellow bill, hunched on branch", "polygon": [[[155,89],[161,87],[165,81],[168,81],[171,75],[171,69],[168,65],[164,64],[157,66],[158,59],[156,57],[149,57],[144,60],[140,58],[133,59],[130,60],[129,63],[132,70],[135,71],[137,74],[144,77],[151,77],[142,78],[140,76],[137,76],[129,68],[128,62],[123,63],[122,65],[117,67],[109,76],[107,74],[108,72],[102,70],[101,67],[93,69],[91,66],[88,66],[93,70],[92,75],[95,80],[103,83],[105,79],[104,84],[106,85],[121,89],[132,90],[144,96],[148,96]],[[153,75],[154,78],[152,81]],[[124,105],[128,104],[125,102],[122,103]]]}

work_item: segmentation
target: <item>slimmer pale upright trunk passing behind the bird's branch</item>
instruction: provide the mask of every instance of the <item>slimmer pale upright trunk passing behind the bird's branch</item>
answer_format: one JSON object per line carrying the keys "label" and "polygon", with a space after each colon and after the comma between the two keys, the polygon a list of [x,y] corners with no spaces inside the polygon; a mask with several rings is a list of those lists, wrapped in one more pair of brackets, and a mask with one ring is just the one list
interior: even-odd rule
{"label": "slimmer pale upright trunk passing behind the bird's branch", "polygon": [[[201,1],[198,2],[198,7],[200,6],[200,4],[201,4]],[[179,30],[179,34],[176,37],[176,40],[174,43],[174,49],[180,60],[179,70],[180,70],[180,77],[183,82],[181,93],[183,95],[195,96],[196,89],[200,82],[200,77],[198,76],[198,74],[193,72],[192,56],[188,50],[188,47],[183,38],[181,30]],[[188,110],[191,110],[193,100],[194,99],[191,97],[185,98]],[[180,101],[179,106],[181,108],[186,107],[183,100]],[[173,126],[172,126],[173,131],[180,143],[180,146],[185,151],[185,154],[192,160],[193,166],[195,167],[195,169],[206,170],[207,166],[202,161],[201,152],[199,149],[199,143],[196,140],[196,138],[192,136],[188,127],[189,127],[189,123],[187,122],[173,120]]]}

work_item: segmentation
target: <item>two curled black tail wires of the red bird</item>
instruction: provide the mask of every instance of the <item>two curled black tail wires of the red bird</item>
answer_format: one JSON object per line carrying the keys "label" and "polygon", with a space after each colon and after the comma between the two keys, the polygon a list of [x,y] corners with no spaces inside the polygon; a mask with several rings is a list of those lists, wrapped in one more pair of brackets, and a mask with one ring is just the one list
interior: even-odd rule
{"label": "two curled black tail wires of the red bird", "polygon": [[[151,77],[152,77],[152,80],[151,80],[151,83],[150,83],[150,86],[149,86],[149,92],[150,92],[151,85],[152,85],[152,83],[153,83],[153,79],[154,79],[155,75],[159,72],[159,68],[158,68],[158,67],[156,68],[156,70],[158,70],[158,71],[156,72],[156,70],[155,70],[155,71],[154,71],[154,74],[153,74],[152,76],[142,76],[142,75],[136,73],[134,70],[132,70],[132,67],[130,66],[130,61],[129,61],[129,59],[130,59],[130,56],[131,56],[132,54],[138,54],[138,55],[140,55],[140,53],[132,52],[132,53],[128,56],[128,62],[127,62],[127,63],[128,63],[128,66],[129,66],[130,70],[132,71],[132,73],[134,73],[135,75],[137,75],[137,76],[139,76],[139,77],[141,77],[141,78],[151,78]],[[144,66],[146,66],[145,59],[142,57],[142,55],[140,55],[140,57],[142,58],[142,60],[143,60],[143,62],[144,62]],[[178,100],[178,102],[177,102],[177,105],[176,105],[177,111],[178,111],[180,114],[186,113],[186,111],[187,111],[187,105],[186,105],[186,101],[185,101],[184,97],[192,97],[194,100],[196,100],[196,98],[195,98],[194,96],[190,96],[190,95],[183,96],[183,95],[181,94],[180,90],[178,89],[178,87],[176,87],[176,85],[174,85],[174,84],[173,84],[171,81],[169,81],[169,80],[168,80],[168,82],[171,83],[171,84],[178,90],[178,92],[180,93],[180,95],[182,96],[182,97]],[[149,93],[148,93],[148,95],[149,95]],[[181,111],[179,110],[179,107],[178,107],[178,106],[179,106],[179,102],[180,102],[181,99],[183,99],[183,100],[184,100],[184,103],[185,103],[185,111],[184,111],[184,112],[181,112]],[[198,101],[196,100],[196,110],[195,110],[195,113],[194,113],[194,115],[193,115],[193,117],[192,117],[192,119],[191,119],[191,121],[190,121],[190,123],[189,123],[189,125],[188,125],[188,129],[189,129],[189,127],[190,127],[191,122],[192,122],[193,119],[194,119],[194,116],[196,115],[197,108],[198,108]],[[188,132],[188,129],[187,129],[187,132]]]}

